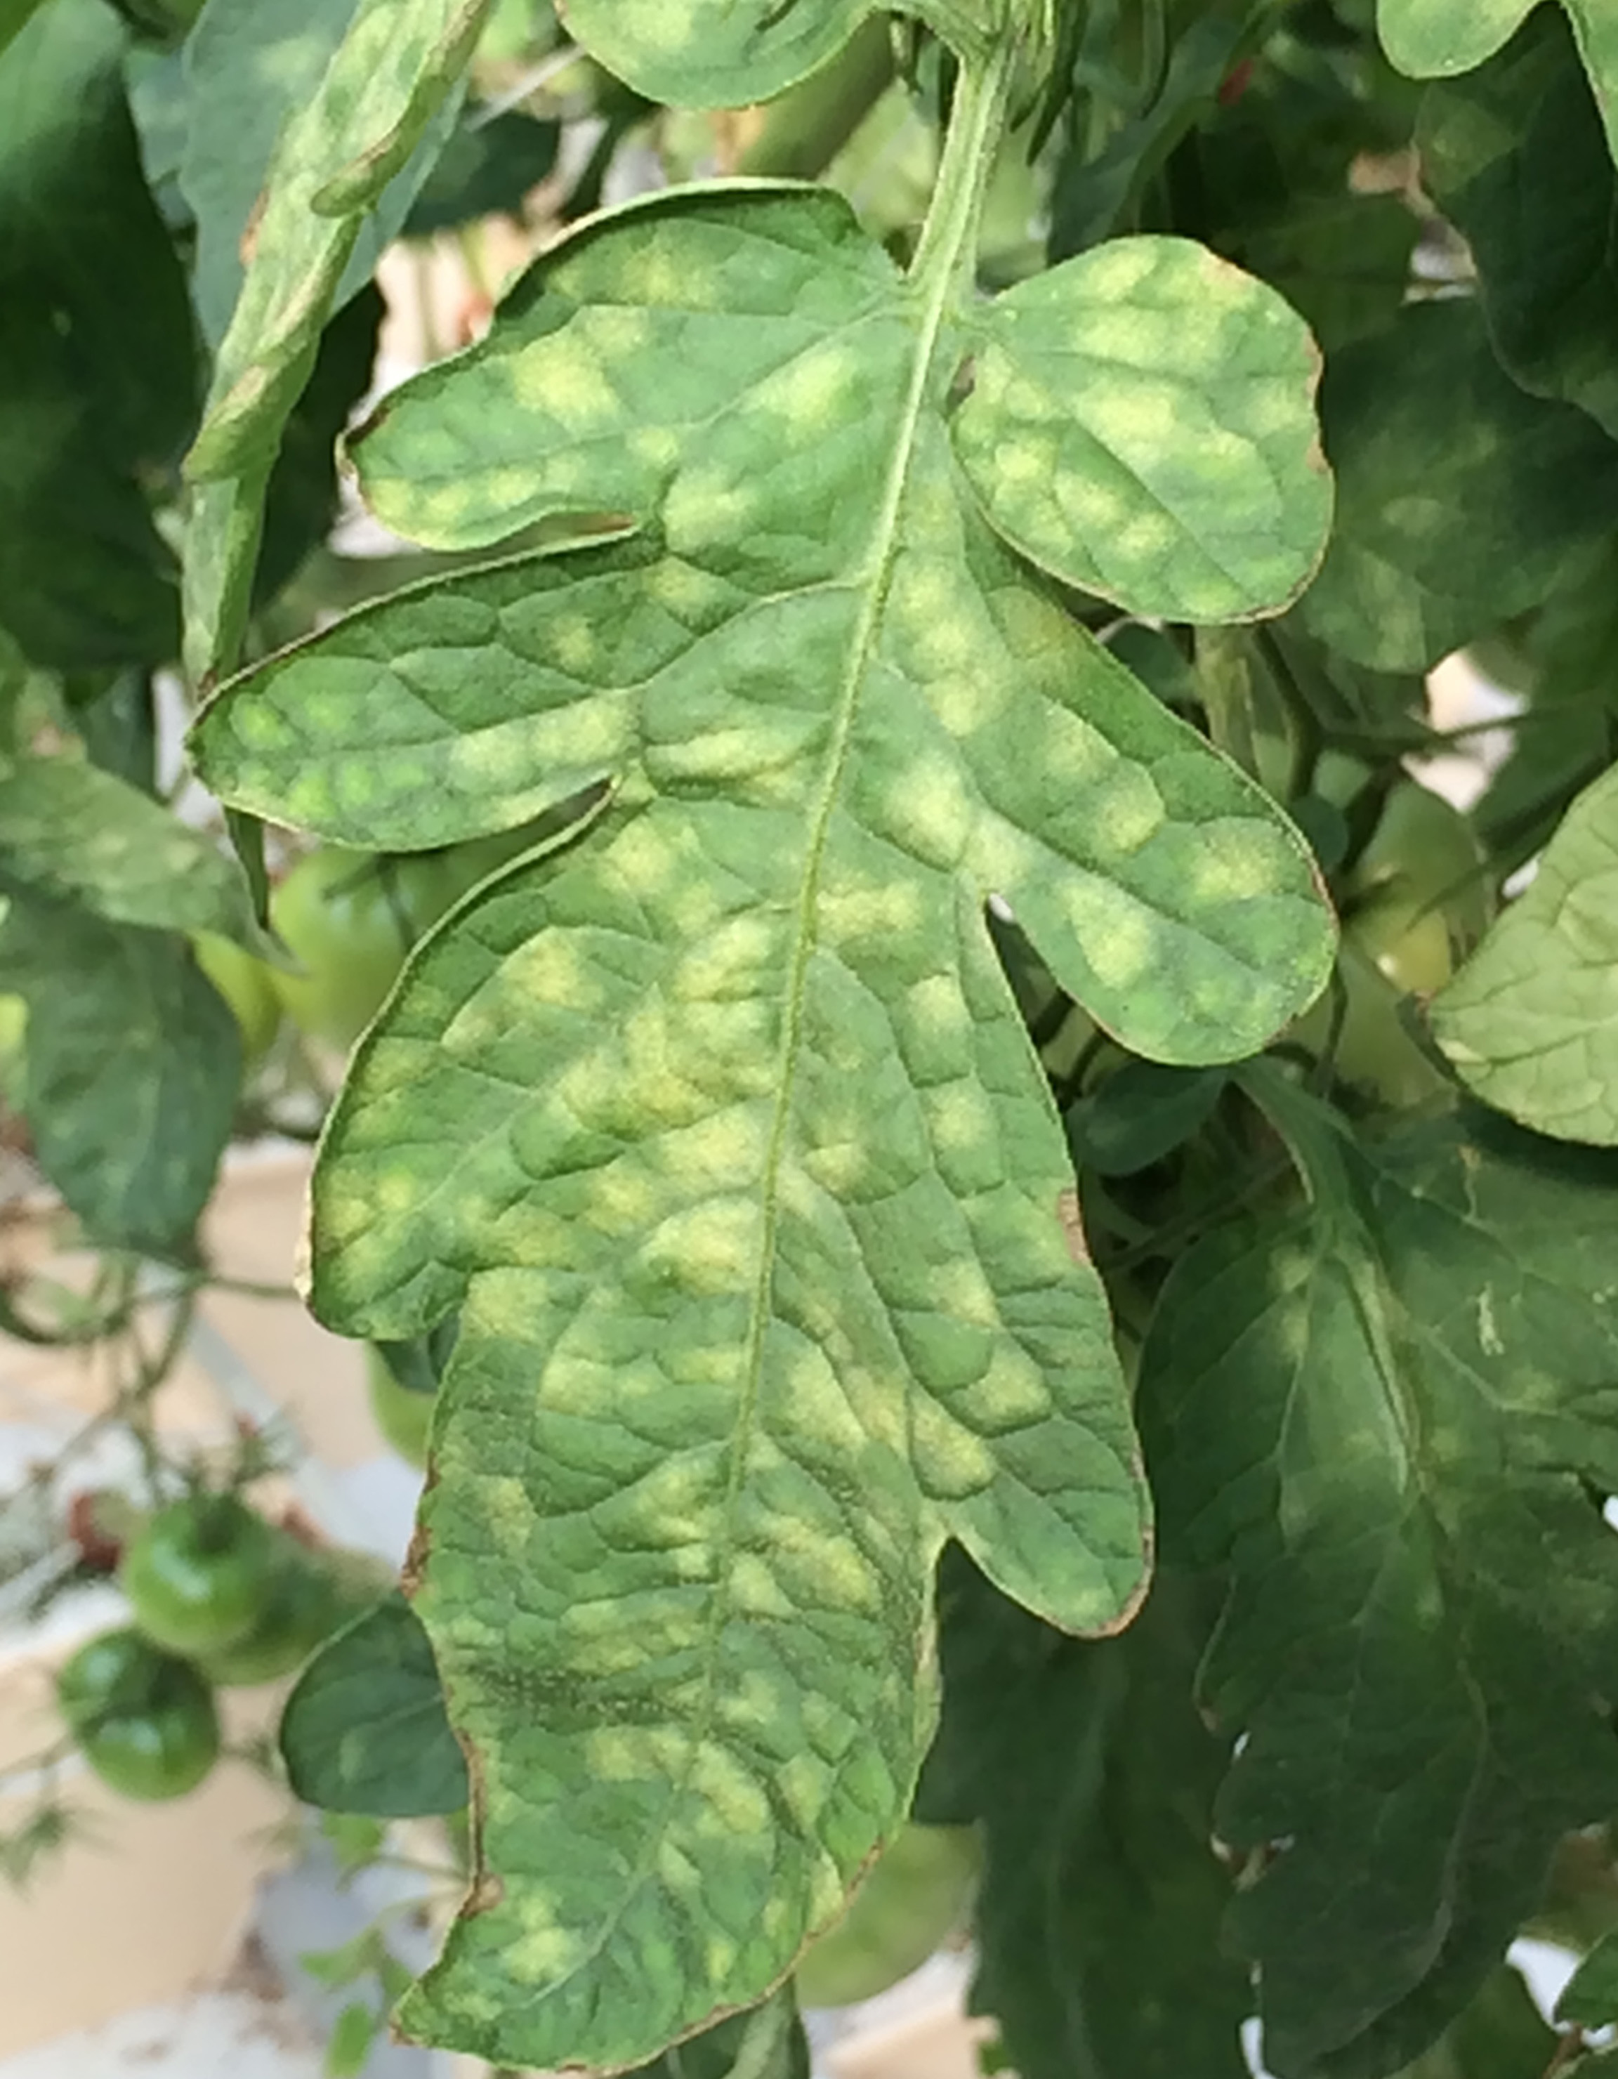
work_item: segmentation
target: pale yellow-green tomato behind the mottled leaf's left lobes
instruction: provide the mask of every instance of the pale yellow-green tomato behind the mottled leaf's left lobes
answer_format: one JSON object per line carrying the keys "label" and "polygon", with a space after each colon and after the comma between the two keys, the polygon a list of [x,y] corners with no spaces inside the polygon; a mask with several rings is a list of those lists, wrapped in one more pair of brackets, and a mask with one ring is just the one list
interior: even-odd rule
{"label": "pale yellow-green tomato behind the mottled leaf's left lobes", "polygon": [[379,859],[329,844],[270,894],[270,923],[302,973],[275,990],[312,1040],[349,1048],[393,988],[406,954],[455,900],[441,857]]}

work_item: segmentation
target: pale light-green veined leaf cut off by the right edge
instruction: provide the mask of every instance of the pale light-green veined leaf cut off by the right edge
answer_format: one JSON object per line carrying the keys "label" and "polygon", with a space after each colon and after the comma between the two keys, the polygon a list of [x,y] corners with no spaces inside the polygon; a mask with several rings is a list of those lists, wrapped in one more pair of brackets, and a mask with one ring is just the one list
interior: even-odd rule
{"label": "pale light-green veined leaf cut off by the right edge", "polygon": [[1568,809],[1431,1021],[1485,1104],[1558,1139],[1618,1146],[1618,771]]}

